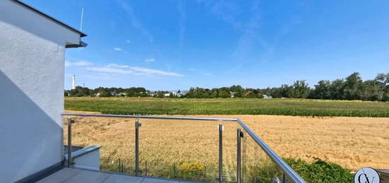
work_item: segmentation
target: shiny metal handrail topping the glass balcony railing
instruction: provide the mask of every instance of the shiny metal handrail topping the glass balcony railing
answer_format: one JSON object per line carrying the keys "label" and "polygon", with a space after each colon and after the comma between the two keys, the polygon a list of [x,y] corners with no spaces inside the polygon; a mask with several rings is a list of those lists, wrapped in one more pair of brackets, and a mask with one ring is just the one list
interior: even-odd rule
{"label": "shiny metal handrail topping the glass balcony railing", "polygon": [[203,120],[203,121],[228,121],[238,122],[243,129],[250,134],[252,139],[265,151],[269,158],[289,177],[293,182],[305,183],[288,164],[284,162],[274,151],[267,146],[244,122],[235,118],[216,118],[216,117],[168,117],[168,116],[142,116],[142,115],[121,115],[121,114],[80,114],[80,113],[62,113],[62,116],[76,116],[76,117],[118,117],[118,118],[135,118],[135,119],[182,119],[182,120]]}

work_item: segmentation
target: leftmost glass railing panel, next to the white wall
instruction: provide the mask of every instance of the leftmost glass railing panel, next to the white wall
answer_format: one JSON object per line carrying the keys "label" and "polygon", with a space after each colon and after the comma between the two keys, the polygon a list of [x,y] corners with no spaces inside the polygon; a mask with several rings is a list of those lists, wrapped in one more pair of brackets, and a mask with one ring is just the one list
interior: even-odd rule
{"label": "leftmost glass railing panel, next to the white wall", "polygon": [[[73,151],[89,146],[101,146],[100,170],[134,174],[134,122],[135,119],[117,117],[64,117],[64,144],[67,146],[67,119],[71,124],[71,144]],[[76,167],[86,167],[78,163]],[[98,165],[92,168],[98,168]]]}

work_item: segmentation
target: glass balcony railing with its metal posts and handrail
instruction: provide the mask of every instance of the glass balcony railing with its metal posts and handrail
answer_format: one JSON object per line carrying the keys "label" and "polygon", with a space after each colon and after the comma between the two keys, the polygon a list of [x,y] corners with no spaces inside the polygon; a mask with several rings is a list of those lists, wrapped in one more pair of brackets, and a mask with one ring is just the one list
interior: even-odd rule
{"label": "glass balcony railing with its metal posts and handrail", "polygon": [[[201,182],[304,182],[239,119],[63,116],[65,147],[99,148],[96,170]],[[88,168],[74,153],[65,156],[69,167]]]}

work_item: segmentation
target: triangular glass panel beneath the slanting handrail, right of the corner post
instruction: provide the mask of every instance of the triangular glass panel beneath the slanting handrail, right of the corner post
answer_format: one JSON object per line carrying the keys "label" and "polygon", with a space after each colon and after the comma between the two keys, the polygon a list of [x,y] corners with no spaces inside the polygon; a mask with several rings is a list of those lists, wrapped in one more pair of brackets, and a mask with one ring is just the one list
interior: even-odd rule
{"label": "triangular glass panel beneath the slanting handrail, right of the corner post", "polygon": [[243,134],[241,182],[281,182],[279,167],[246,131]]}

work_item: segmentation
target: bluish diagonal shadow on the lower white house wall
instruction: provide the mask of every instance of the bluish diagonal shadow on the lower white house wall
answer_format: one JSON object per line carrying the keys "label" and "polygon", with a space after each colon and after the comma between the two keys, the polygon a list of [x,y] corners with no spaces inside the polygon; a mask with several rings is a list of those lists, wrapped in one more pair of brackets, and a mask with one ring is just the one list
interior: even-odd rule
{"label": "bluish diagonal shadow on the lower white house wall", "polygon": [[62,126],[1,70],[0,87],[0,182],[15,182],[59,163]]}

